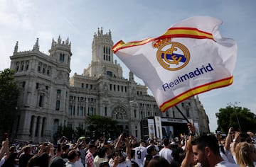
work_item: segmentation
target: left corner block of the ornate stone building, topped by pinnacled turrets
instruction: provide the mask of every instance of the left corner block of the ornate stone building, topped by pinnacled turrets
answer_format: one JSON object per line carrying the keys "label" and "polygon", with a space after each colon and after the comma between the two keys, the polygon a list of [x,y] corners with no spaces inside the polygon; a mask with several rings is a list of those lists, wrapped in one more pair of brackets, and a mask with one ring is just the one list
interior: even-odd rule
{"label": "left corner block of the ornate stone building, topped by pinnacled turrets", "polygon": [[20,89],[19,121],[16,138],[43,142],[52,140],[58,125],[65,124],[68,108],[70,42],[53,40],[50,56],[40,52],[39,40],[33,50],[18,52],[11,58],[11,69]]}

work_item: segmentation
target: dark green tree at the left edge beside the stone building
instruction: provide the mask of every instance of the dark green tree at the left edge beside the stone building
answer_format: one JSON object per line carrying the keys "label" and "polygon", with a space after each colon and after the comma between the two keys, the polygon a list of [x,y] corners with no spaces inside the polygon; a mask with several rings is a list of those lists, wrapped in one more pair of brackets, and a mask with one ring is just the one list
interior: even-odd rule
{"label": "dark green tree at the left edge beside the stone building", "polygon": [[18,86],[14,80],[14,70],[0,71],[0,129],[11,132],[17,112]]}

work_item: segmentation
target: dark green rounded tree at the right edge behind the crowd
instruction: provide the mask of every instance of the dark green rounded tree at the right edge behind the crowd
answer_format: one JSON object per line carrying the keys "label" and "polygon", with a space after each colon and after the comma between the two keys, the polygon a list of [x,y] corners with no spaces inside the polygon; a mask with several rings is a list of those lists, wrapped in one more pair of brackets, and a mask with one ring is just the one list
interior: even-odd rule
{"label": "dark green rounded tree at the right edge behind the crowd", "polygon": [[256,115],[251,113],[248,108],[228,105],[226,108],[220,108],[216,113],[218,118],[218,130],[228,133],[229,127],[242,132],[254,132],[256,126]]}

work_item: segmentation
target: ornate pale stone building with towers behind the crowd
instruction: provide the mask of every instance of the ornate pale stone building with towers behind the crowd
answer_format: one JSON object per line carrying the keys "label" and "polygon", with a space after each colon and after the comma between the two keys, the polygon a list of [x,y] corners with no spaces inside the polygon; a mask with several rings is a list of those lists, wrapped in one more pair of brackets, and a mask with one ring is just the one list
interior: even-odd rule
{"label": "ornate pale stone building with towers behind the crowd", "polygon": [[[19,117],[14,138],[41,142],[53,141],[59,125],[87,127],[88,115],[117,120],[119,131],[141,137],[140,121],[161,116],[183,119],[176,108],[161,113],[146,86],[137,84],[134,75],[123,76],[122,67],[111,51],[112,34],[99,29],[92,40],[92,61],[83,74],[70,77],[69,40],[53,40],[49,55],[39,51],[38,39],[33,50],[18,52],[11,58],[11,69],[20,88]],[[177,105],[188,119],[198,125],[199,133],[208,133],[208,117],[198,97]]]}

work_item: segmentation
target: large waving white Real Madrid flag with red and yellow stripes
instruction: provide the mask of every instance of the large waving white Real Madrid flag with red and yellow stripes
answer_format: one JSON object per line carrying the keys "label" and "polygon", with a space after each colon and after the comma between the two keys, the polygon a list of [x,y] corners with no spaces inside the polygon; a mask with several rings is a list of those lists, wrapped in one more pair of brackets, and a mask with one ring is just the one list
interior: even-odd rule
{"label": "large waving white Real Madrid flag with red and yellow stripes", "polygon": [[222,38],[210,16],[175,23],[158,38],[124,43],[112,51],[152,91],[161,111],[198,93],[233,83],[237,45]]}

